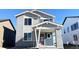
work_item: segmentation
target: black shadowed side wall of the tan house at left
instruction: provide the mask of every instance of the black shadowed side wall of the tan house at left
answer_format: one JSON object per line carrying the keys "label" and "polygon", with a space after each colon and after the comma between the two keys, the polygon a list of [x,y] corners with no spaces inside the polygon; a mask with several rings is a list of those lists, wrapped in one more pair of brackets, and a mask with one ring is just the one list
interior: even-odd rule
{"label": "black shadowed side wall of the tan house at left", "polygon": [[14,47],[16,31],[13,31],[7,27],[3,27],[3,28],[4,28],[3,47],[5,47],[5,48]]}

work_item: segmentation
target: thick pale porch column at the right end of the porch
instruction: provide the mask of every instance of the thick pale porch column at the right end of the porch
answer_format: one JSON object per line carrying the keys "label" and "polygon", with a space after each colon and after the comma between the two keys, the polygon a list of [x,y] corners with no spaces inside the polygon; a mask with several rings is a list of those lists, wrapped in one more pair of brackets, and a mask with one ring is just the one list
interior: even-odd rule
{"label": "thick pale porch column at the right end of the porch", "polygon": [[56,43],[57,43],[57,48],[63,48],[61,30],[56,30]]}

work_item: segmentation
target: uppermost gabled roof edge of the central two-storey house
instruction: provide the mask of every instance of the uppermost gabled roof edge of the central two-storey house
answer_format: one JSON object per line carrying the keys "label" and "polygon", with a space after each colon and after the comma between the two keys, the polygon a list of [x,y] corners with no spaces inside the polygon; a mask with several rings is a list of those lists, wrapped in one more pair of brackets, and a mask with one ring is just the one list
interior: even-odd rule
{"label": "uppermost gabled roof edge of the central two-storey house", "polygon": [[25,12],[22,12],[22,13],[19,13],[16,15],[16,17],[18,16],[21,16],[21,15],[24,15],[26,13],[31,13],[31,14],[35,14],[37,15],[38,17],[45,17],[45,16],[48,16],[49,18],[54,18],[55,16],[53,15],[50,15],[48,13],[45,13],[45,12],[42,12],[42,11],[39,11],[39,10],[31,10],[31,11],[25,11]]}

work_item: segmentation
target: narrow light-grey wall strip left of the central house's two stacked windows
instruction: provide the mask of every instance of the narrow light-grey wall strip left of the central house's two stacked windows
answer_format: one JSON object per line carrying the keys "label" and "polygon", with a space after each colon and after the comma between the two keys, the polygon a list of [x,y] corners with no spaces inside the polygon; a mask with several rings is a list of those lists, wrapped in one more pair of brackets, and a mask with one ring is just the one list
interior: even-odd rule
{"label": "narrow light-grey wall strip left of the central house's two stacked windows", "polygon": [[23,40],[23,16],[17,17],[16,22],[16,46],[19,46],[19,41]]}

